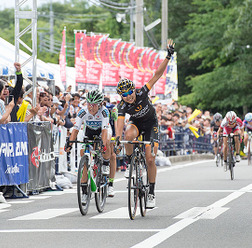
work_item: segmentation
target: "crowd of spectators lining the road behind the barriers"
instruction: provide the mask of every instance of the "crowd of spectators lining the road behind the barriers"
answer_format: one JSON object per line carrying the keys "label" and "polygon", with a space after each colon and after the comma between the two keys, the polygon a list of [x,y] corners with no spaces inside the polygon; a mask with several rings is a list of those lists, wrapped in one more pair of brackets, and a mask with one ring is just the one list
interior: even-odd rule
{"label": "crowd of spectators lining the road behind the barriers", "polygon": [[[0,124],[49,121],[54,127],[63,126],[70,130],[78,111],[86,104],[87,90],[79,90],[73,93],[71,86],[64,92],[57,86],[54,90],[49,87],[37,86],[36,104],[33,106],[33,86],[31,84],[23,85],[21,66],[19,63],[15,63],[15,67],[17,71],[15,87],[7,80],[0,79]],[[15,96],[11,98],[12,95]],[[109,96],[105,99],[109,99]],[[113,102],[116,104],[115,100]],[[192,108],[182,106],[177,101],[165,104],[157,102],[154,105],[159,122],[161,141],[174,140],[176,133],[188,129],[187,119],[193,112]],[[209,111],[201,111],[190,124],[198,128],[200,136],[206,136],[211,134],[212,119],[213,114]]]}

